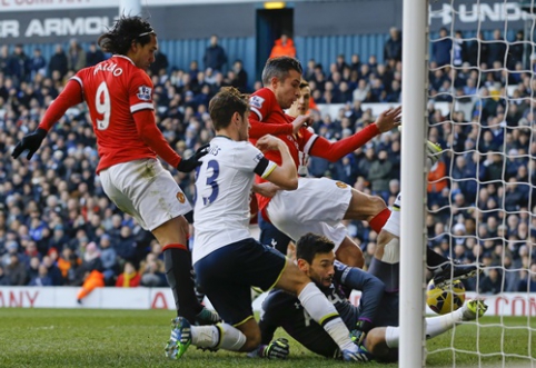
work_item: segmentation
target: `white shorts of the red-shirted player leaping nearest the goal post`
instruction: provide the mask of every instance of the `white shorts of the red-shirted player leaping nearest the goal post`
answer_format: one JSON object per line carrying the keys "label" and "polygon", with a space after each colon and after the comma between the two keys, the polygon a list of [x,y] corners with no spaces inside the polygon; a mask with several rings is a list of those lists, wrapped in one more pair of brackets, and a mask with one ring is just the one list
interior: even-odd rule
{"label": "white shorts of the red-shirted player leaping nearest the goal post", "polygon": [[267,207],[268,217],[294,241],[307,232],[320,233],[335,242],[345,239],[340,223],[351,199],[351,187],[328,178],[299,178],[298,189],[279,190]]}

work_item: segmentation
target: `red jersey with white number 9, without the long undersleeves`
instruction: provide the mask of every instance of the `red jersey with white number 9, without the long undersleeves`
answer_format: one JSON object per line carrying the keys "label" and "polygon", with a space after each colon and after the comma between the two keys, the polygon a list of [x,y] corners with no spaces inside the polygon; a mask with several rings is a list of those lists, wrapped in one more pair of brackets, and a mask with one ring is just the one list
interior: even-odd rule
{"label": "red jersey with white number 9, without the long undersleeves", "polygon": [[73,80],[82,88],[97,137],[100,162],[97,172],[113,165],[156,158],[141,139],[132,117],[153,110],[149,76],[123,56],[113,56],[80,70]]}

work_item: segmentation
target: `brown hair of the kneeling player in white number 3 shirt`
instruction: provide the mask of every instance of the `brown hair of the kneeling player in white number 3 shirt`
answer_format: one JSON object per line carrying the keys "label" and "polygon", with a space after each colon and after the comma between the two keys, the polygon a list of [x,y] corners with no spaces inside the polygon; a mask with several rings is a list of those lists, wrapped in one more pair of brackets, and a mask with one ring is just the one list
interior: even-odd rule
{"label": "brown hair of the kneeling player in white number 3 shirt", "polygon": [[208,111],[216,130],[227,128],[232,115],[245,115],[249,109],[248,96],[240,93],[235,87],[222,87],[210,100]]}

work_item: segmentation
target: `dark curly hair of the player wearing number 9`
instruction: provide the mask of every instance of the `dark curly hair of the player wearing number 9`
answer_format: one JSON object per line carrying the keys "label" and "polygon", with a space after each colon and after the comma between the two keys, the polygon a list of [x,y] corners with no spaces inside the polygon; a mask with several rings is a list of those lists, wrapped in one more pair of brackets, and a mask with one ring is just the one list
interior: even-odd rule
{"label": "dark curly hair of the player wearing number 9", "polygon": [[117,54],[127,54],[132,41],[147,44],[151,34],[157,36],[151,24],[141,17],[121,16],[113,27],[97,40],[102,51]]}

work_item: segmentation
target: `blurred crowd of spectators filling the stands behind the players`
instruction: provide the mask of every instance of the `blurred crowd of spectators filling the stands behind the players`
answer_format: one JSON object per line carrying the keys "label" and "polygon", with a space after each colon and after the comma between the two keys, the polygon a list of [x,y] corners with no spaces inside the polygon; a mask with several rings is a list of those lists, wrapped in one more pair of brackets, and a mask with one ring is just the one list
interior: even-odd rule
{"label": "blurred crowd of spectators filling the stands behind the players", "polygon": [[[464,281],[469,290],[536,291],[533,71],[524,68],[522,43],[503,40],[500,31],[494,40],[484,42],[480,34],[468,44],[461,32],[454,38],[445,32],[431,44],[429,72],[428,139],[445,153],[428,177],[428,246],[487,266],[478,280]],[[365,62],[358,54],[350,60],[339,54],[326,70],[302,61],[314,101],[341,105],[336,116],[310,111],[318,135],[337,140],[371,123],[376,117],[363,103],[400,102],[401,38],[396,29],[390,34],[384,63],[375,56]],[[151,67],[158,126],[183,157],[212,138],[207,109],[220,87],[244,92],[261,87],[248,81],[240,60],[226,71],[225,50],[216,46],[212,38],[204,62],[214,59],[217,67],[200,69],[192,60],[182,70],[161,52]],[[10,156],[66,81],[107,57],[76,40],[67,52],[58,46],[50,60],[38,49],[30,57],[21,46],[0,47],[0,286],[80,286],[92,270],[101,271],[108,286],[166,286],[160,245],[102,191],[85,108],[70,109],[31,161]],[[455,108],[445,116],[436,102]],[[309,175],[341,180],[391,205],[400,190],[400,135],[381,135],[335,163],[311,158]],[[167,169],[191,200],[193,176]],[[364,221],[346,225],[368,265],[376,232]]]}

